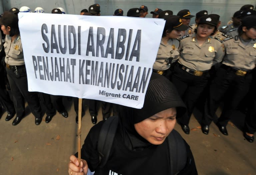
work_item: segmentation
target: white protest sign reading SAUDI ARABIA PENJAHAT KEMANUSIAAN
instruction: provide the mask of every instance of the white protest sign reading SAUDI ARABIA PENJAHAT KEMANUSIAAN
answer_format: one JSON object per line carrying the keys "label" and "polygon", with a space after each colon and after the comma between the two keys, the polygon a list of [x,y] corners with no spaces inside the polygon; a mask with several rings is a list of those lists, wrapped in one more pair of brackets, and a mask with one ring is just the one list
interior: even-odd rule
{"label": "white protest sign reading SAUDI ARABIA PENJAHAT KEMANUSIAAN", "polygon": [[142,108],[165,21],[19,13],[29,91]]}

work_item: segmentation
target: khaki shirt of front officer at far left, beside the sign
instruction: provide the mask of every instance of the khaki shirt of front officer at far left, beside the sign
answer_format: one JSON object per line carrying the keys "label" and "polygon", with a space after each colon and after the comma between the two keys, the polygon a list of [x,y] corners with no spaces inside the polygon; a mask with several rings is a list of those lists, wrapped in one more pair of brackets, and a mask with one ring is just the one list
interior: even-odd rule
{"label": "khaki shirt of front officer at far left, beside the sign", "polygon": [[5,63],[10,66],[20,66],[24,65],[24,56],[20,40],[20,35],[11,42],[10,35],[6,35],[4,43],[5,51]]}

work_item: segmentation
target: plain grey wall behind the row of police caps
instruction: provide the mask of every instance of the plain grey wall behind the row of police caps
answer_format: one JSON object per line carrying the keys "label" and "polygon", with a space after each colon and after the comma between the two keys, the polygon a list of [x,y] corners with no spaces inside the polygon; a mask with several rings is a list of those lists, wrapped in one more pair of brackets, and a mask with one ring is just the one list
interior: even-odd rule
{"label": "plain grey wall behind the row of police caps", "polygon": [[[0,13],[12,7],[28,6],[32,11],[36,7],[42,7],[45,13],[51,13],[53,8],[62,7],[67,14],[79,14],[82,9],[88,9],[94,3],[100,4],[102,15],[113,15],[117,8],[123,9],[126,15],[130,8],[146,5],[149,9],[147,17],[150,18],[152,17],[150,11],[155,8],[172,10],[174,14],[182,9],[189,9],[192,15],[200,10],[207,10],[209,13],[219,14],[223,25],[231,19],[234,12],[238,11],[241,6],[245,4],[256,6],[255,0],[0,0]],[[193,23],[194,19],[192,18],[191,24]]]}

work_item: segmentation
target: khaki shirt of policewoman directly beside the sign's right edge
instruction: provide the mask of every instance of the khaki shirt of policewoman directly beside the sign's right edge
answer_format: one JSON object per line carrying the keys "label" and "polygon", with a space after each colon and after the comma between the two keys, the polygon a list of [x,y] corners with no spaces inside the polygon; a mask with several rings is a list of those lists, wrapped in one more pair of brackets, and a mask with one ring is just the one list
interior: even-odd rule
{"label": "khaki shirt of policewoman directly beside the sign's right edge", "polygon": [[167,70],[170,68],[170,64],[168,64],[168,60],[172,57],[172,63],[175,62],[179,57],[179,48],[180,42],[177,39],[169,39],[168,43],[165,45],[161,40],[156,61],[153,65],[153,69],[161,71]]}

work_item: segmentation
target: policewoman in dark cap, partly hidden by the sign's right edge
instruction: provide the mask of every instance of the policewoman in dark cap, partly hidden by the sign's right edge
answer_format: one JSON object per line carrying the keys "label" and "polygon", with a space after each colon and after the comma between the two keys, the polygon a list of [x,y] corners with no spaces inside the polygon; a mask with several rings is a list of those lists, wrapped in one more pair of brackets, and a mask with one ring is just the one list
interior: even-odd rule
{"label": "policewoman in dark cap, partly hidden by the sign's right edge", "polygon": [[153,65],[153,72],[164,75],[170,80],[171,64],[179,57],[180,42],[177,38],[181,31],[187,30],[188,26],[182,24],[180,16],[167,16],[161,43],[157,52],[156,61]]}

